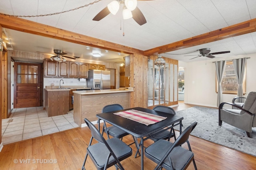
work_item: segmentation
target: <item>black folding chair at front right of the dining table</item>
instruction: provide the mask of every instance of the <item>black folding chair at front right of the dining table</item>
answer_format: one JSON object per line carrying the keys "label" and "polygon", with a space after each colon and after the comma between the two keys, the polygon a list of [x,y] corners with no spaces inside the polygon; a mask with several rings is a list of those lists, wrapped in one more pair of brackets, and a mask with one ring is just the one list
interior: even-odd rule
{"label": "black folding chair at front right of the dining table", "polygon": [[[174,143],[160,139],[145,149],[145,156],[157,163],[154,170],[185,170],[191,161],[197,170],[194,153],[188,142],[189,135],[196,125],[197,122],[194,122],[187,127]],[[189,150],[181,147],[185,142],[188,143]]]}

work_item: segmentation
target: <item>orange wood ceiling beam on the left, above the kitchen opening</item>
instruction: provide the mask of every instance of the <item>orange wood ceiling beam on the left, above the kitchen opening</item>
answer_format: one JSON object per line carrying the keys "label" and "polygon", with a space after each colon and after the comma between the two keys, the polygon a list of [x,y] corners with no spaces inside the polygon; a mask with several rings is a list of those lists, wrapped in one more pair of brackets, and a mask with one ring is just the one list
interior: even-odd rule
{"label": "orange wood ceiling beam on the left, above the kitchen opening", "polygon": [[42,35],[44,37],[60,39],[63,41],[68,41],[71,43],[77,43],[81,45],[88,45],[90,47],[103,48],[110,51],[116,51],[126,54],[135,53],[139,55],[143,55],[144,53],[143,51],[134,49],[132,47],[119,45],[109,41],[96,39],[86,35],[66,31],[64,29],[58,29],[56,27],[52,27],[49,25],[24,20],[22,18],[7,16],[4,14],[0,14],[0,25],[2,25],[2,27],[4,28],[13,29],[16,31],[22,31],[25,33],[31,33],[35,35]]}

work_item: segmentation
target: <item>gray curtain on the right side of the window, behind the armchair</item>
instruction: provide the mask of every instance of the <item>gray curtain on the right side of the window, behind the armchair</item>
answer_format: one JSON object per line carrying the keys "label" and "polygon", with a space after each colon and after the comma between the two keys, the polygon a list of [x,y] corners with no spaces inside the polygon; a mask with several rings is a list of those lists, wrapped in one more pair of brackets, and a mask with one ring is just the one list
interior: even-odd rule
{"label": "gray curtain on the right side of the window, behind the armchair", "polygon": [[[246,58],[233,59],[232,62],[234,65],[234,70],[235,70],[236,79],[237,79],[237,83],[238,83],[237,96],[243,97],[244,96],[243,80],[244,80],[244,72],[245,72],[245,66],[246,66]],[[242,103],[242,99],[239,98],[238,102]]]}

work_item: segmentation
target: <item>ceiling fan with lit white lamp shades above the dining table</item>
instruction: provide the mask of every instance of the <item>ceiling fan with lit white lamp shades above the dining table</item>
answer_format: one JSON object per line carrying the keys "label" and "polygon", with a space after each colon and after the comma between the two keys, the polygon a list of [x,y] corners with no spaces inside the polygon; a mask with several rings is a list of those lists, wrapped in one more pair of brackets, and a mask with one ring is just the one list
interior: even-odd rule
{"label": "ceiling fan with lit white lamp shades above the dining table", "polygon": [[147,23],[144,15],[137,7],[137,0],[114,0],[110,2],[103,10],[101,10],[92,20],[100,21],[110,13],[115,15],[121,6],[123,9],[122,14],[124,20],[133,18],[139,25]]}

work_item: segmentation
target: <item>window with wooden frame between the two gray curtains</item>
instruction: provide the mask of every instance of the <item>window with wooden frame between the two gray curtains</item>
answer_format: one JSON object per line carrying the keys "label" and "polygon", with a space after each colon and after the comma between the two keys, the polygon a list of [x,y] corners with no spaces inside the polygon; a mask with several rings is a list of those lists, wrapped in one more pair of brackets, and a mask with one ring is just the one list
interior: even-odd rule
{"label": "window with wooden frame between the two gray curtains", "polygon": [[[246,93],[246,69],[244,72],[244,80],[243,80],[243,92]],[[236,79],[236,74],[234,70],[234,65],[232,61],[226,62],[225,71],[222,78],[222,93],[223,94],[237,94],[238,90],[238,82]],[[216,92],[218,92],[218,81],[216,78]]]}

